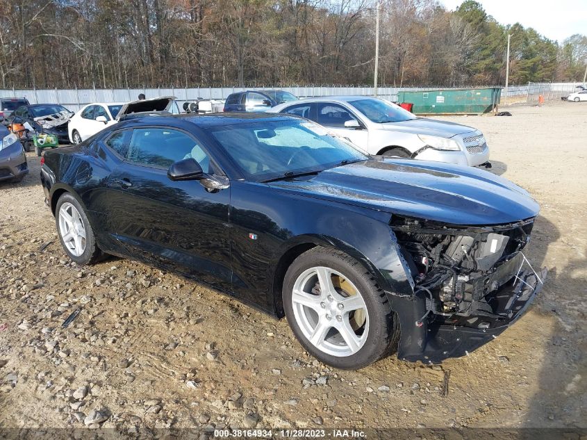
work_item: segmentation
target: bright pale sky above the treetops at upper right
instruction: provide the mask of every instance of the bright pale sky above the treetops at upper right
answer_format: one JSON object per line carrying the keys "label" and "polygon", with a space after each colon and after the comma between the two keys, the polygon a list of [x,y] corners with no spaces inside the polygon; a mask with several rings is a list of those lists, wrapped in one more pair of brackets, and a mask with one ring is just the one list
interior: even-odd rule
{"label": "bright pale sky above the treetops at upper right", "polygon": [[[477,0],[497,22],[534,28],[550,40],[562,42],[574,33],[587,35],[587,0]],[[463,0],[440,0],[454,10]]]}

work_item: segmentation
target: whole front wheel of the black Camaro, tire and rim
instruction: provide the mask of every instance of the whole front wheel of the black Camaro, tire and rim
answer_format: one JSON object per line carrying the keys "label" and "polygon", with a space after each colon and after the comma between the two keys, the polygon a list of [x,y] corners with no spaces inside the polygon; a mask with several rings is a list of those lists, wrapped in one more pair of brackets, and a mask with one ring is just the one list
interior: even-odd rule
{"label": "whole front wheel of the black Camaro, tire and rim", "polygon": [[386,294],[343,252],[315,247],[298,256],[282,298],[295,336],[324,364],[356,370],[397,346],[399,323]]}

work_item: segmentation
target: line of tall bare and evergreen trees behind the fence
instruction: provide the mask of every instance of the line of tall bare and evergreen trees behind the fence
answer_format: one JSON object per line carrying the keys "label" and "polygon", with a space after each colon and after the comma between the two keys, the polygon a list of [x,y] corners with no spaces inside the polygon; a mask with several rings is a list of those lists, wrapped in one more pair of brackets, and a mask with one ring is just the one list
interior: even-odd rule
{"label": "line of tall bare and evergreen trees behind the fence", "polygon": [[[381,0],[379,83],[580,81],[587,37],[499,24],[476,1]],[[377,0],[3,0],[1,88],[368,84]]]}

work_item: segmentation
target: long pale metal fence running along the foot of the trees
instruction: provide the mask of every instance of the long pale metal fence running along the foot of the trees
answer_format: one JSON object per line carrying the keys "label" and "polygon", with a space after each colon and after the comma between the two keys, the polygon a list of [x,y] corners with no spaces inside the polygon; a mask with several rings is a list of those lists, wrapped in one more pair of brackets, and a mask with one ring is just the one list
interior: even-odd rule
{"label": "long pale metal fence running along the foot of the trees", "polygon": [[[528,83],[527,85],[510,86],[507,95],[502,90],[502,99],[511,101],[538,101],[538,95],[545,99],[561,99],[561,96],[569,95],[577,90],[581,83]],[[482,86],[481,86],[482,87]],[[267,87],[270,88],[270,87]],[[231,93],[241,90],[263,90],[265,87],[240,88],[240,87],[197,87],[197,88],[127,88],[127,89],[0,89],[0,97],[26,97],[31,104],[61,104],[72,111],[78,111],[85,104],[92,102],[128,102],[138,98],[144,93],[147,98],[171,95],[179,101],[188,101],[197,98],[226,99]],[[377,88],[377,95],[391,101],[397,100],[399,91],[411,90],[435,90],[447,89],[442,87],[390,87],[383,85]],[[280,87],[298,97],[315,97],[330,95],[373,95],[370,86],[354,85],[292,85]],[[525,97],[525,99],[524,99]]]}

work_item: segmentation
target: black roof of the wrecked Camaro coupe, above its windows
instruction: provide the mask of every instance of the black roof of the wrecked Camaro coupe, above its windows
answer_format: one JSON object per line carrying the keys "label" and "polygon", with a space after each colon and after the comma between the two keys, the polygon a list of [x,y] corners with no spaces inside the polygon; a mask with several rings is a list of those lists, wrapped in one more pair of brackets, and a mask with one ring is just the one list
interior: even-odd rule
{"label": "black roof of the wrecked Camaro coupe, above its windows", "polygon": [[151,115],[133,117],[129,121],[133,124],[157,124],[165,125],[165,122],[176,122],[181,120],[190,122],[197,127],[218,127],[221,125],[246,124],[255,121],[283,121],[283,120],[300,120],[302,118],[295,115],[283,115],[281,113],[206,113],[204,115],[194,115],[185,113],[181,115]]}

